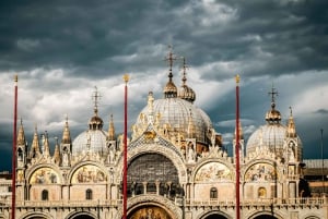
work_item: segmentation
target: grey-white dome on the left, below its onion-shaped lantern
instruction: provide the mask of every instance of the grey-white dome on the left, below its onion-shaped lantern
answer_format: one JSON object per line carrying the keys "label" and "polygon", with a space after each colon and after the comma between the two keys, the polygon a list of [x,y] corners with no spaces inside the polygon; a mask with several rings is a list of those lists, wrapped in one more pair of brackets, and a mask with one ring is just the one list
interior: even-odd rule
{"label": "grey-white dome on the left, below its onion-shaped lantern", "polygon": [[103,130],[89,130],[82,132],[73,141],[72,153],[79,155],[86,153],[104,153],[106,151],[106,138],[107,134]]}

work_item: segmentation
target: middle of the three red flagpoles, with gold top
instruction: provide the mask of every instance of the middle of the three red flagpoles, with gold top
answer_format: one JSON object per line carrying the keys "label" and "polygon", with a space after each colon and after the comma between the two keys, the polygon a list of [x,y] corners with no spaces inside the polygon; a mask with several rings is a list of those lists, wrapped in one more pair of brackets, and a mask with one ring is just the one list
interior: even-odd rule
{"label": "middle of the three red flagpoles, with gold top", "polygon": [[124,196],[124,214],[122,219],[127,219],[127,204],[128,204],[128,143],[127,143],[127,134],[128,134],[128,82],[129,75],[124,75],[125,85],[125,136],[124,136],[124,188],[122,188],[122,196]]}

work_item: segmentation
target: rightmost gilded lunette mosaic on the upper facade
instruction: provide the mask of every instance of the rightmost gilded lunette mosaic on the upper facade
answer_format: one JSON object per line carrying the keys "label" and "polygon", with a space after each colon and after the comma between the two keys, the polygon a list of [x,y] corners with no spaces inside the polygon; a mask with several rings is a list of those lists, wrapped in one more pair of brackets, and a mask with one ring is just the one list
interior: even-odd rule
{"label": "rightmost gilded lunette mosaic on the upper facade", "polygon": [[251,166],[246,174],[246,182],[263,182],[273,181],[277,179],[277,171],[272,165],[268,163],[256,163]]}

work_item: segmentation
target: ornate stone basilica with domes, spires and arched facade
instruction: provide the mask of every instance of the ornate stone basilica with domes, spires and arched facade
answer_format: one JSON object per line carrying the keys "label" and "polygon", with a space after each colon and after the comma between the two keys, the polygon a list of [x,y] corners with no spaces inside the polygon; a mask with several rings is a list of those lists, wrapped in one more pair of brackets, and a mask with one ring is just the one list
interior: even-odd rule
{"label": "ornate stone basilica with domes, spires and arched facade", "polygon": [[[208,114],[194,105],[196,93],[173,81],[169,52],[164,97],[150,92],[128,136],[128,210],[130,219],[233,219],[236,217],[235,155]],[[292,110],[288,124],[272,101],[265,124],[246,141],[239,129],[241,216],[245,219],[328,218],[325,197],[311,197],[303,177],[302,142]],[[94,113],[86,130],[71,138],[68,119],[50,154],[48,134],[35,127],[26,144],[17,134],[17,219],[119,219],[122,217],[124,136],[113,118],[108,129]],[[234,111],[234,109],[233,109]],[[235,136],[236,139],[236,136]],[[234,141],[236,145],[236,141]],[[244,153],[245,151],[245,153]],[[3,202],[0,218],[10,218]]]}

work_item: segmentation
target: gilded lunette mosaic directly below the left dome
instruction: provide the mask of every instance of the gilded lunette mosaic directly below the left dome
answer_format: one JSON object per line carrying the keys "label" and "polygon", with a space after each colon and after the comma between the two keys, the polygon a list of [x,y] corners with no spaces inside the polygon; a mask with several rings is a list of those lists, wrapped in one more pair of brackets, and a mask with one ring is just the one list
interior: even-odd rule
{"label": "gilded lunette mosaic directly below the left dome", "polygon": [[96,166],[80,167],[72,177],[72,183],[98,183],[105,182],[105,173]]}

